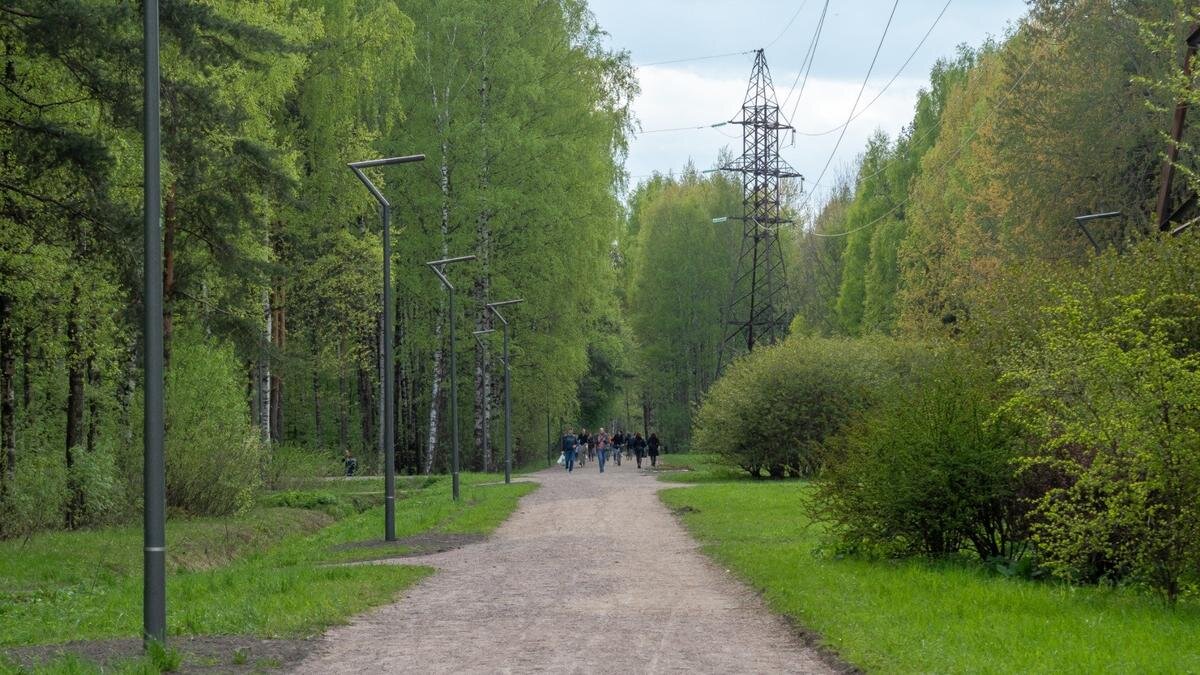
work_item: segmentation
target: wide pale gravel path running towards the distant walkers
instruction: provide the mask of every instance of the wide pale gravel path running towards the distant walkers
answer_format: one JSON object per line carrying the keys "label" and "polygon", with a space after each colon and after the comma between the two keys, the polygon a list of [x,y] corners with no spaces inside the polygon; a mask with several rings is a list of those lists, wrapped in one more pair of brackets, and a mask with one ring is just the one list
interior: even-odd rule
{"label": "wide pale gravel path running towards the distant walkers", "polygon": [[829,673],[712,565],[632,462],[542,486],[488,540],[320,638],[298,673]]}

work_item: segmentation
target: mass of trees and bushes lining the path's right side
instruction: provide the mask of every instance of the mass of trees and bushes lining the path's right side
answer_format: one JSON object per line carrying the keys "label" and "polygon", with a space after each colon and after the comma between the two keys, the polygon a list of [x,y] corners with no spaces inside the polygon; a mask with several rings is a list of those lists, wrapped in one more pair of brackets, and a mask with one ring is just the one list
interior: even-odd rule
{"label": "mass of trees and bushes lining the path's right side", "polygon": [[[1193,593],[1200,239],[1160,237],[1154,209],[1170,113],[1196,98],[1195,20],[1174,0],[1038,1],[938,64],[794,239],[793,333],[839,348],[793,336],[730,368],[696,446],[755,476],[818,458],[811,513],[839,550]],[[1200,215],[1198,139],[1174,226]],[[1073,222],[1100,211],[1120,217]],[[850,405],[888,340],[925,347]]]}

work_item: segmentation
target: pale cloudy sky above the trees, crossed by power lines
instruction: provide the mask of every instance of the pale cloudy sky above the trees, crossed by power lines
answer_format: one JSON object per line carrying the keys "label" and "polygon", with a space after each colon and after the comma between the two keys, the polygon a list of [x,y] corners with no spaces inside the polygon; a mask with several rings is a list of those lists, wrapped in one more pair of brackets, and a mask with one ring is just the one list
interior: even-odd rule
{"label": "pale cloudy sky above the trees, crossed by power lines", "polygon": [[[598,23],[608,32],[608,46],[628,50],[637,66],[642,91],[634,112],[642,133],[630,143],[626,169],[632,183],[655,171],[678,173],[689,160],[709,168],[724,147],[734,154],[742,150],[740,126],[646,132],[733,119],[745,97],[754,54],[661,61],[764,48],[776,97],[781,103],[787,100],[784,117],[797,130],[794,144],[792,135],[781,137],[781,154],[805,177],[805,191],[816,205],[824,202],[835,177],[853,166],[875,130],[894,137],[912,120],[917,92],[938,59],[953,58],[959,44],[1002,40],[1026,12],[1025,0],[949,0],[949,5],[946,0],[829,0],[812,67],[797,98],[800,67],[823,5],[824,0],[590,0]],[[895,14],[884,36],[893,5]],[[864,88],[881,37],[878,59]],[[809,136],[844,125],[860,90],[858,117],[840,143],[841,130]]]}

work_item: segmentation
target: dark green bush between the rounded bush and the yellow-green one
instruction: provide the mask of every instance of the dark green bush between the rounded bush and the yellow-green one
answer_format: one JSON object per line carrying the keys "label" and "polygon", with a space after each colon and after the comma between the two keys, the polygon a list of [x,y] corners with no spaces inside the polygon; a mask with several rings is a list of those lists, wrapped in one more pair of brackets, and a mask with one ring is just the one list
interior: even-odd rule
{"label": "dark green bush between the rounded bush and the yellow-green one", "polygon": [[887,392],[829,455],[811,502],[838,545],[1015,560],[1027,542],[1012,425],[991,374],[946,350]]}

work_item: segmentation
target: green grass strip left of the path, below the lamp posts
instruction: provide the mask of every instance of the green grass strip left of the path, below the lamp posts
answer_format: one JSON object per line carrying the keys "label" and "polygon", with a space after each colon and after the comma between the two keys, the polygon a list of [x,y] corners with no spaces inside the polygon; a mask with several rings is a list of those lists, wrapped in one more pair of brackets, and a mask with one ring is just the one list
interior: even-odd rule
{"label": "green grass strip left of the path, below the lamp posts", "polygon": [[[494,474],[462,474],[458,503],[450,498],[449,478],[398,482],[397,536],[491,532],[535,488],[480,485],[494,482]],[[322,482],[314,489],[335,497],[378,492],[374,503],[383,501],[382,479]],[[328,500],[314,500],[312,506],[168,522],[168,633],[307,637],[389,602],[432,572],[329,565],[398,551],[344,548],[383,538],[382,506],[336,521],[320,508],[329,506]],[[140,548],[137,527],[0,542],[0,646],[137,635]]]}

